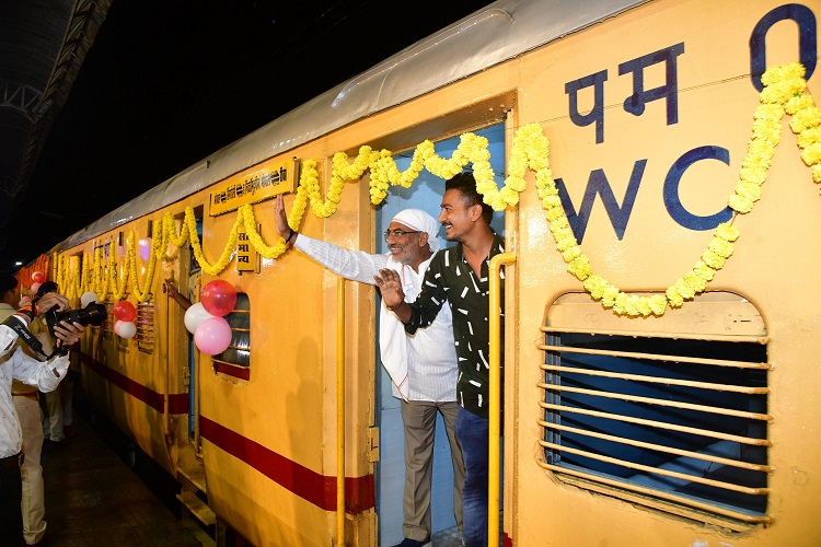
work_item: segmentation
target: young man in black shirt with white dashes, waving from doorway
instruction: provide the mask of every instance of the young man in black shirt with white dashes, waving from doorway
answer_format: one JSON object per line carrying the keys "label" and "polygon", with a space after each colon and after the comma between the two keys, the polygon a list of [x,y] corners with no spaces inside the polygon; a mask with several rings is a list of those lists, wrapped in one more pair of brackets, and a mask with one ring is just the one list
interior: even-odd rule
{"label": "young man in black shirt with white dashes, waving from doorway", "polygon": [[[505,252],[505,240],[490,228],[493,209],[482,201],[471,173],[444,185],[439,222],[456,245],[439,251],[425,274],[414,303],[405,302],[395,271],[380,270],[377,284],[389,310],[409,334],[436,318],[444,302],[453,313],[453,338],[459,360],[456,438],[462,445],[465,479],[462,492],[464,544],[487,545],[488,377],[490,258]],[[505,278],[501,279],[504,295]],[[504,298],[498,313],[504,328]],[[504,351],[502,351],[504,354]],[[498,517],[495,516],[495,517]]]}

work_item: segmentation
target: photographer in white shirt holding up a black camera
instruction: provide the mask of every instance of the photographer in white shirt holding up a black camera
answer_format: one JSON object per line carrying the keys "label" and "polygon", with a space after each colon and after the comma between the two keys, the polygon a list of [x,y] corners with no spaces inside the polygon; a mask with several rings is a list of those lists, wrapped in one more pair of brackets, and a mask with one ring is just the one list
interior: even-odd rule
{"label": "photographer in white shirt holding up a black camera", "polygon": [[54,327],[57,338],[57,356],[48,356],[42,362],[27,356],[16,346],[23,337],[26,342],[36,339],[26,327],[38,315],[56,309],[68,309],[68,300],[56,293],[22,306],[15,311],[18,302],[16,279],[8,274],[0,275],[0,531],[8,545],[23,545],[23,516],[21,510],[23,464],[23,438],[21,424],[14,410],[12,380],[36,386],[41,392],[55,389],[66,376],[69,366],[67,349],[77,342],[84,327],[77,322],[59,322]]}

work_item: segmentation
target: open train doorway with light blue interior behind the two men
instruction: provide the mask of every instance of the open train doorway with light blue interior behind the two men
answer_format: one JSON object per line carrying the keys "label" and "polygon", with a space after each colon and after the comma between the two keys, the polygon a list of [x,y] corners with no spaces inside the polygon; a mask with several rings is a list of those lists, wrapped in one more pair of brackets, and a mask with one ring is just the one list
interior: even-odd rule
{"label": "open train doorway with light blue interior behind the two men", "polygon": [[[496,183],[505,181],[505,125],[498,124],[474,131],[486,137],[489,142],[490,163],[496,173]],[[436,142],[436,152],[450,158],[459,146],[459,138]],[[410,164],[413,150],[394,156],[400,171]],[[469,164],[467,170],[471,168]],[[377,253],[388,253],[388,244],[381,236],[393,217],[406,208],[421,209],[439,217],[440,203],[444,194],[444,181],[423,171],[410,188],[391,187],[388,197],[377,210]],[[505,214],[495,213],[494,230],[504,233]],[[440,247],[451,245],[439,234]],[[378,299],[378,306],[381,300]],[[377,325],[379,328],[379,325]],[[379,336],[377,336],[379,339]],[[402,498],[405,485],[404,433],[400,400],[391,395],[391,377],[385,372],[377,352],[377,426],[380,430],[380,462],[377,466],[377,511],[379,513],[379,545],[395,545],[402,542],[403,510]],[[436,443],[433,445],[433,479],[431,485],[432,533],[456,525],[453,516],[453,469],[448,435],[441,415],[437,416]]]}

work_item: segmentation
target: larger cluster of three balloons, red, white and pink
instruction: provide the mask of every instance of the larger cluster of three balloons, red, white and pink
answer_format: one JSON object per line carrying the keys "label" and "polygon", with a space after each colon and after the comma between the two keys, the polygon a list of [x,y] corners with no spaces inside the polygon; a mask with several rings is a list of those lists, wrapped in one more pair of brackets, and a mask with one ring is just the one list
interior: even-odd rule
{"label": "larger cluster of three balloons, red, white and pink", "polygon": [[228,281],[210,281],[199,293],[199,302],[185,312],[185,328],[203,353],[216,356],[231,345],[231,326],[223,317],[236,305],[236,291]]}

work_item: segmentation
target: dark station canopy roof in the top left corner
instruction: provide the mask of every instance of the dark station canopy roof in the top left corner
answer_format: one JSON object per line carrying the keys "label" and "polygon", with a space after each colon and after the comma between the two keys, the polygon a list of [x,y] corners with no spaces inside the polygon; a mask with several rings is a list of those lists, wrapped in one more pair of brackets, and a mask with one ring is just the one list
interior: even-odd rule
{"label": "dark station canopy roof in the top left corner", "polygon": [[0,249],[112,0],[0,1]]}

